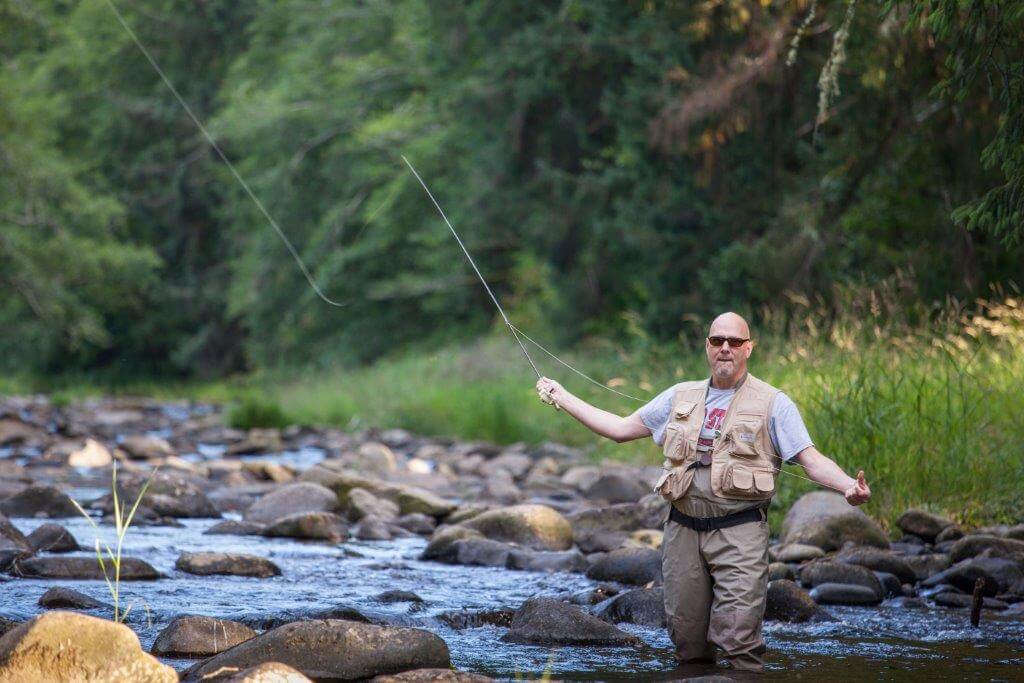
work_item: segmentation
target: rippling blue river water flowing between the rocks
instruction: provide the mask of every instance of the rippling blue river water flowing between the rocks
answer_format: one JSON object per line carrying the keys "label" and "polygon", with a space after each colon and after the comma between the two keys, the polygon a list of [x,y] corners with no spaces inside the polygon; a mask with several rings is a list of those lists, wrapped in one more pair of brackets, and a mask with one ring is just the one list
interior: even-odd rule
{"label": "rippling blue river water flowing between the rocks", "polygon": [[[46,520],[16,519],[30,532]],[[84,519],[59,520],[83,546],[94,531]],[[459,669],[503,678],[537,677],[549,667],[565,679],[669,680],[714,670],[674,669],[671,644],[662,630],[623,625],[644,641],[640,648],[580,648],[514,645],[501,641],[504,629],[454,630],[437,616],[468,609],[517,607],[537,594],[557,595],[592,588],[581,574],[544,574],[489,567],[463,567],[417,559],[420,538],[386,542],[349,541],[337,546],[261,537],[203,536],[217,520],[184,519],[182,528],[132,528],[125,554],[151,562],[167,579],[123,585],[136,607],[132,627],[143,646],[180,614],[207,614],[248,623],[290,618],[335,605],[354,606],[375,620],[418,626],[440,635]],[[113,543],[111,526],[101,540]],[[253,553],[276,562],[273,579],[193,577],[174,569],[182,551]],[[101,582],[59,582],[110,601]],[[41,611],[39,596],[55,582],[13,580],[3,585],[0,615],[25,618]],[[413,591],[423,605],[382,604],[374,596],[388,590]],[[769,679],[798,680],[1022,680],[1024,618],[986,612],[972,629],[966,610],[836,607],[835,622],[812,625],[769,623]],[[186,660],[167,660],[178,669]],[[719,670],[722,673],[722,670]]]}

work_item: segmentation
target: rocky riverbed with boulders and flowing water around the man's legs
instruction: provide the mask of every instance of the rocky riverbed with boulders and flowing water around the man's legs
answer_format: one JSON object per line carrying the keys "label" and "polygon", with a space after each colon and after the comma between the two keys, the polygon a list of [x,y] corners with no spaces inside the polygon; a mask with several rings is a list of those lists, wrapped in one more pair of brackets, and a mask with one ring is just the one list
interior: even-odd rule
{"label": "rocky riverbed with boulders and flowing water around the man's legs", "polygon": [[[112,597],[92,551],[116,542],[115,462],[122,501],[151,481],[125,539],[127,628],[100,621]],[[553,443],[243,432],[210,405],[8,398],[0,679],[715,673],[673,661],[657,473]],[[793,506],[770,549],[769,677],[1019,677],[1024,525],[962,529],[913,510],[899,527],[890,538],[825,492]],[[94,635],[71,639],[71,659],[40,654],[80,633]]]}

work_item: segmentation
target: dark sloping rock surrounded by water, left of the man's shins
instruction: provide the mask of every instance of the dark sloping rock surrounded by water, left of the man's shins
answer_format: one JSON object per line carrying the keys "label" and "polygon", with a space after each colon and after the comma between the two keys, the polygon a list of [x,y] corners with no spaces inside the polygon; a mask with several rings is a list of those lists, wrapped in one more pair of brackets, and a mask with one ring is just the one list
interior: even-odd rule
{"label": "dark sloping rock surrounded by water, left of the man's shins", "polygon": [[530,598],[516,610],[502,640],[549,646],[638,646],[635,636],[554,598]]}

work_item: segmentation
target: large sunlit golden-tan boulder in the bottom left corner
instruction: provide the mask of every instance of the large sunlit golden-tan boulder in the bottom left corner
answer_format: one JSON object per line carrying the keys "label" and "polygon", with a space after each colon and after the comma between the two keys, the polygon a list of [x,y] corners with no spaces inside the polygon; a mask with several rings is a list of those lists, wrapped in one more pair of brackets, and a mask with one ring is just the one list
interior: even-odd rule
{"label": "large sunlit golden-tan boulder in the bottom left corner", "polygon": [[0,680],[177,683],[123,624],[51,611],[0,638]]}

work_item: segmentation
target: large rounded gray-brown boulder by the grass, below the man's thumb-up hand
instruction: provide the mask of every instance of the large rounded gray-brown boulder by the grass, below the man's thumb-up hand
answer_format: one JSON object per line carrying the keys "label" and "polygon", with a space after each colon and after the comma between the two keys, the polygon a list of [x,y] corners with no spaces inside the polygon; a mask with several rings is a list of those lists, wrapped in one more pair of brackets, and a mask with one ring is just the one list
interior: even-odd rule
{"label": "large rounded gray-brown boulder by the grass, below the man's thumb-up hand", "polygon": [[888,548],[889,540],[877,522],[839,494],[815,490],[793,504],[782,521],[782,542],[838,550],[847,542]]}

